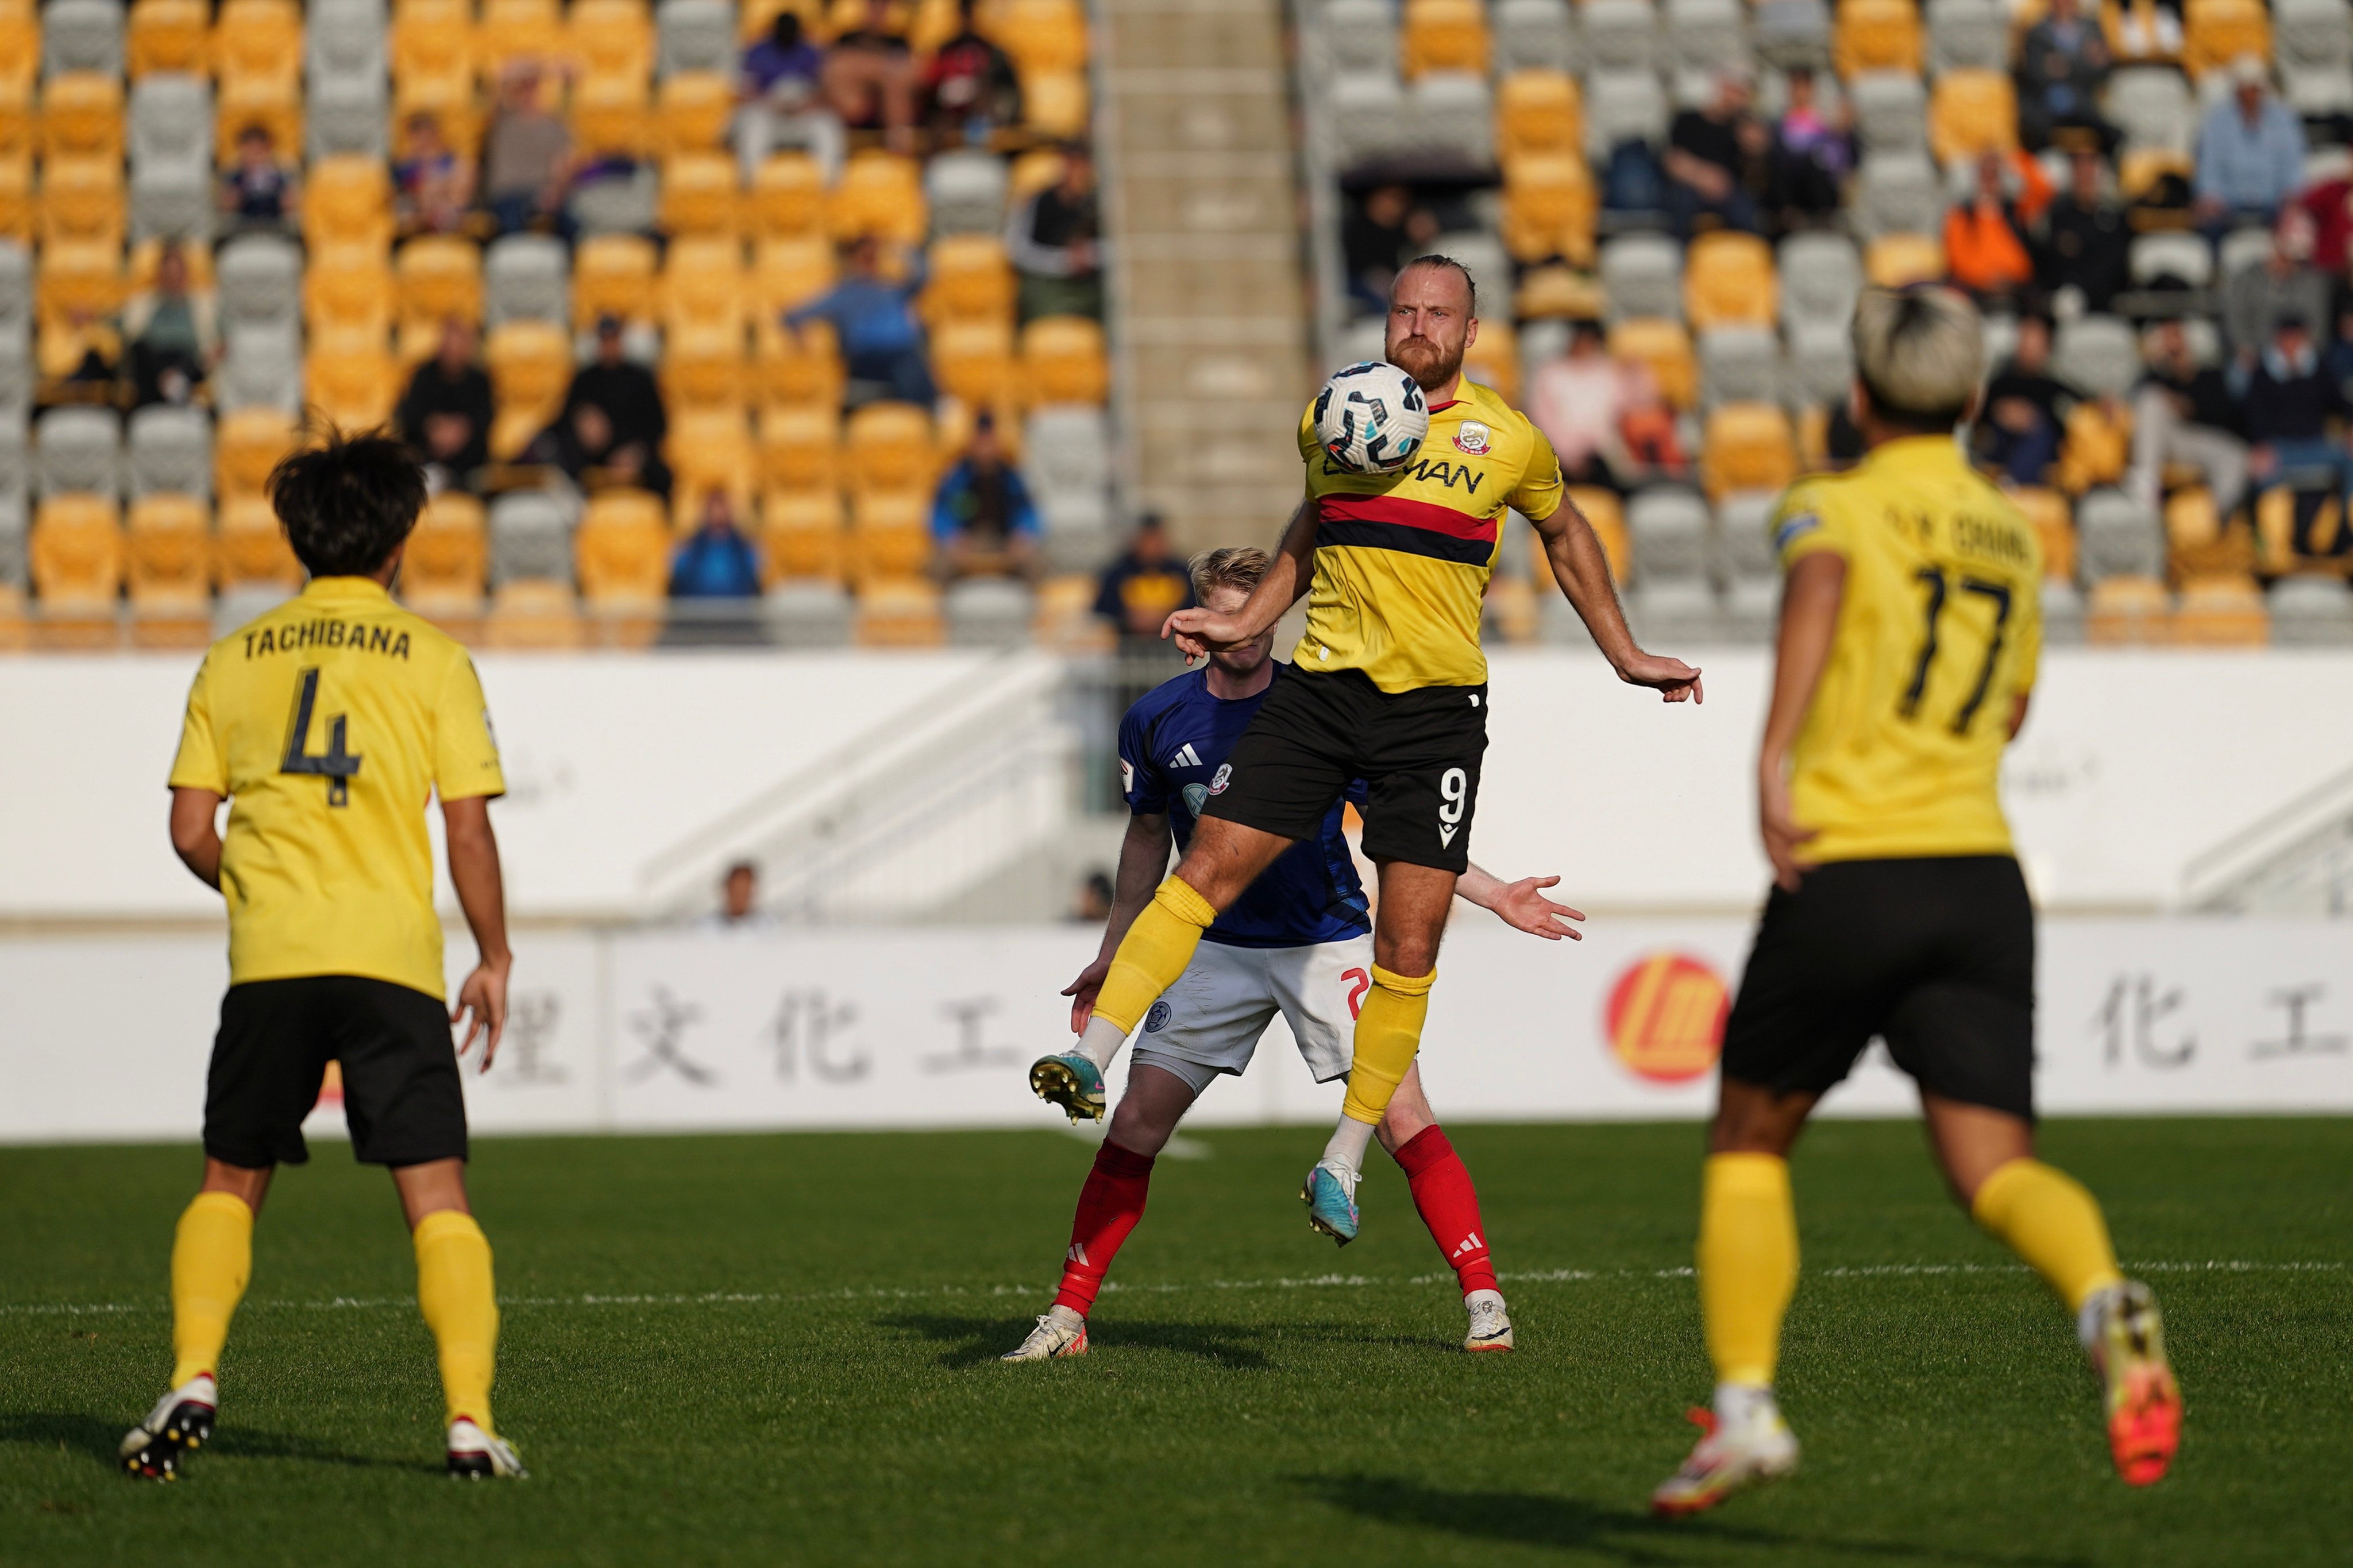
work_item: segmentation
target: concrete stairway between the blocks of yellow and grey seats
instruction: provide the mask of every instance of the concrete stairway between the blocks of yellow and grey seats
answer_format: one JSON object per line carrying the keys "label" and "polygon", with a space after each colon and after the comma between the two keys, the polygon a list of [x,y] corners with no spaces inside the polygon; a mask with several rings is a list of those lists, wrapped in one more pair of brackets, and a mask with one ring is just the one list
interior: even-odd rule
{"label": "concrete stairway between the blocks of yellow and grey seats", "polygon": [[1127,498],[1273,545],[1313,393],[1280,0],[1096,0]]}

